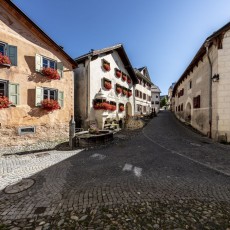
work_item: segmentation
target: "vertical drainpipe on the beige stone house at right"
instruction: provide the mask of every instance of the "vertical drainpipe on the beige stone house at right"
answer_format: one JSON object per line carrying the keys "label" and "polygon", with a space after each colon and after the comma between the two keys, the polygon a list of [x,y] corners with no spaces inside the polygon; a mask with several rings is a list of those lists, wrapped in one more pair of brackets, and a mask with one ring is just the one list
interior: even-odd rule
{"label": "vertical drainpipe on the beige stone house at right", "polygon": [[207,40],[205,43],[206,54],[209,62],[209,105],[208,105],[208,118],[209,118],[209,138],[212,138],[212,62],[209,55],[210,42]]}

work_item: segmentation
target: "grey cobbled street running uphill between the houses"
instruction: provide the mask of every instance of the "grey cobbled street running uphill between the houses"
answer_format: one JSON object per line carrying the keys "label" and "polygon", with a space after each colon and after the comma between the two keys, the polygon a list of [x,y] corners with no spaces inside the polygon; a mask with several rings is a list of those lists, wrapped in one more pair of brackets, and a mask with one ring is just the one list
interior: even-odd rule
{"label": "grey cobbled street running uphill between the houses", "polygon": [[[52,154],[62,151],[46,151],[39,164]],[[1,157],[9,171],[2,183],[14,177],[10,159],[23,157]],[[69,151],[48,165],[24,190],[0,191],[0,229],[230,229],[230,146],[168,111],[106,147]],[[18,171],[29,170],[24,162]]]}

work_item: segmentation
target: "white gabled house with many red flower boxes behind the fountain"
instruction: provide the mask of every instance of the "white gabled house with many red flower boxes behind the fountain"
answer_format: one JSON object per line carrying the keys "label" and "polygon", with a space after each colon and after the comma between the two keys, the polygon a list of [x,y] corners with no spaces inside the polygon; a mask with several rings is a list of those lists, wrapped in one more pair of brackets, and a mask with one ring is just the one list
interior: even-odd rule
{"label": "white gabled house with many red flower boxes behind the fountain", "polygon": [[92,50],[75,60],[77,127],[110,128],[134,115],[133,86],[138,81],[123,45]]}

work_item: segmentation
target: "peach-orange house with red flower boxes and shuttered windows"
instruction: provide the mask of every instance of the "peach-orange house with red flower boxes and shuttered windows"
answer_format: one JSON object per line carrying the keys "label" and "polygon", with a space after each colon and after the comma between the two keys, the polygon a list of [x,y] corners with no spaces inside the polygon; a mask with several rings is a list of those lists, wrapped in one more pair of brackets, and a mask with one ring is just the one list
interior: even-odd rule
{"label": "peach-orange house with red flower boxes and shuttered windows", "polygon": [[76,63],[12,1],[1,1],[0,30],[0,149],[66,140]]}

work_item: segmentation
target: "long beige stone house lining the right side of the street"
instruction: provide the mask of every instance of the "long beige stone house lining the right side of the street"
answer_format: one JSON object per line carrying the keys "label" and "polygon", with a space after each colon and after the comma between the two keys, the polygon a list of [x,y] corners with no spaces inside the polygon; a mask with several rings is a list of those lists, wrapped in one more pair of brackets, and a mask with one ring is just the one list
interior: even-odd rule
{"label": "long beige stone house lining the right side of the street", "polygon": [[230,141],[230,23],[209,36],[173,89],[174,112],[216,140]]}

